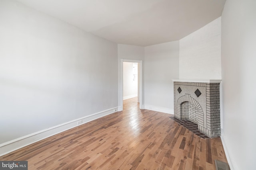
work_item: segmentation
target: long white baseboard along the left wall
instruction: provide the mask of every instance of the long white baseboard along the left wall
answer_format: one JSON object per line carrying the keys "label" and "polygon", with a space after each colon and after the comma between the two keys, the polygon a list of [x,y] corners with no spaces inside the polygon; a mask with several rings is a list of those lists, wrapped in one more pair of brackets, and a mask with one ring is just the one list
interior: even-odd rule
{"label": "long white baseboard along the left wall", "polygon": [[104,111],[100,111],[98,113],[94,113],[88,116],[81,117],[79,119],[75,119],[66,123],[62,123],[60,125],[56,125],[54,127],[50,127],[48,129],[44,129],[42,131],[38,131],[35,133],[31,133],[29,135],[14,139],[12,141],[8,141],[6,143],[0,144],[0,156],[8,154],[14,150],[20,149],[22,147],[26,147],[32,143],[38,142],[42,139],[46,139],[68,129],[80,126],[84,123],[88,123],[89,121],[98,119],[100,117],[115,113],[118,111],[118,107],[114,107],[111,109],[107,109]]}

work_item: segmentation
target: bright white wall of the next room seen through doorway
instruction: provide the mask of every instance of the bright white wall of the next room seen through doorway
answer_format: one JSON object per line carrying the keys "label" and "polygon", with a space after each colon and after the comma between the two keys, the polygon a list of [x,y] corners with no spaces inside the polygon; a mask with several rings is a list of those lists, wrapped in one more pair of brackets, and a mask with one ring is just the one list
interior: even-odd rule
{"label": "bright white wall of the next room seen through doorway", "polygon": [[[137,69],[134,78],[133,66]],[[123,98],[129,99],[138,96],[138,63],[123,63]]]}

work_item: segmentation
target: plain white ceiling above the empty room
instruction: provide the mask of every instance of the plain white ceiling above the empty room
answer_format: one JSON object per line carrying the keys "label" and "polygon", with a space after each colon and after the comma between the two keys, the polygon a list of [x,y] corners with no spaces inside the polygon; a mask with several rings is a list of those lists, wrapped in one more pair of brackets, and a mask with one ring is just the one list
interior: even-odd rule
{"label": "plain white ceiling above the empty room", "polygon": [[18,0],[110,41],[179,40],[221,16],[226,0]]}

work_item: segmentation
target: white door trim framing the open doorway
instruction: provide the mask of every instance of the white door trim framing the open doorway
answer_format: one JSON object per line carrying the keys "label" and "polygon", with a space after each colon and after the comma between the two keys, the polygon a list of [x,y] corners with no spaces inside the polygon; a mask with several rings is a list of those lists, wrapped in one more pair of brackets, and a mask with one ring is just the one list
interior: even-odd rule
{"label": "white door trim framing the open doorway", "polygon": [[140,95],[140,97],[139,97],[139,102],[140,102],[140,109],[143,109],[142,108],[142,106],[143,106],[143,86],[142,86],[142,84],[143,84],[143,64],[142,64],[142,60],[127,60],[127,59],[121,59],[120,60],[120,76],[121,76],[121,78],[120,78],[120,85],[121,85],[121,94],[120,94],[120,104],[121,104],[121,111],[123,110],[123,63],[124,62],[130,62],[130,63],[139,63],[140,64],[140,68],[139,68],[139,95]]}

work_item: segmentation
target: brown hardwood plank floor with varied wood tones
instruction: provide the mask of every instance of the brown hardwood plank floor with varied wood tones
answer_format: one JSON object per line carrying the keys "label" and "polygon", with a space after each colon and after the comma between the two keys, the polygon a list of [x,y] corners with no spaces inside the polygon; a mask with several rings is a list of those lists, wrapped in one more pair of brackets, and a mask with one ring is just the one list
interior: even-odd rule
{"label": "brown hardwood plank floor with varied wood tones", "polygon": [[29,170],[215,170],[215,159],[227,162],[220,138],[201,139],[136,100],[0,160],[28,160]]}

